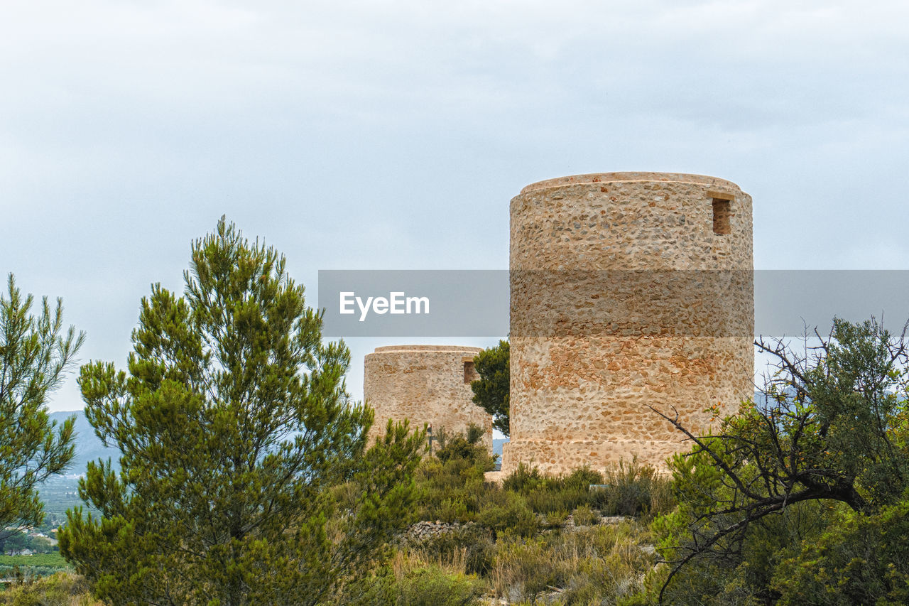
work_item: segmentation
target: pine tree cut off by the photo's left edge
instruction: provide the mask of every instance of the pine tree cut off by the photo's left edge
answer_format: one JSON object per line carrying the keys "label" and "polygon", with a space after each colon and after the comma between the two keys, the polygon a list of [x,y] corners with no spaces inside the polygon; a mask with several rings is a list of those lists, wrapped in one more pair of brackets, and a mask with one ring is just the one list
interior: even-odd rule
{"label": "pine tree cut off by the photo's left edge", "polygon": [[34,298],[22,296],[13,274],[7,292],[0,294],[0,539],[41,524],[37,486],[73,459],[74,419],[58,427],[45,405],[85,341],[73,327],[64,331],[61,299],[52,310],[45,297],[32,316]]}

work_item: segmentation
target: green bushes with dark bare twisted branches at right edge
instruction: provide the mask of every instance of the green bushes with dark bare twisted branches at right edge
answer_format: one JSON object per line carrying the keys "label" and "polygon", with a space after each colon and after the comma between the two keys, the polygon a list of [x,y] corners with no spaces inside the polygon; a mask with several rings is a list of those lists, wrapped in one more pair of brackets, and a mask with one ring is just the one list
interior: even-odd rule
{"label": "green bushes with dark bare twisted branches at right edge", "polygon": [[653,525],[674,565],[664,601],[904,603],[904,338],[835,318],[820,340],[804,354],[759,341],[778,360],[766,401],[745,403],[720,436],[674,421],[695,445],[672,462],[678,508]]}

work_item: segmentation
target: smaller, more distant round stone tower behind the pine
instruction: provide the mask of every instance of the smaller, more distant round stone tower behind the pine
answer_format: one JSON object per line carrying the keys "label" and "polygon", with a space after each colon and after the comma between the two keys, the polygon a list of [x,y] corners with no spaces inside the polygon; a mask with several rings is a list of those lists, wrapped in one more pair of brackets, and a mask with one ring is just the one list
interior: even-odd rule
{"label": "smaller, more distant round stone tower behind the pine", "polygon": [[[375,409],[370,441],[385,432],[388,419],[410,419],[411,427],[431,425],[463,433],[471,423],[485,429],[484,445],[493,449],[493,418],[472,401],[470,380],[479,379],[473,359],[480,348],[445,345],[395,345],[366,354],[363,390]],[[464,365],[469,363],[465,373]],[[465,374],[467,376],[465,376]]]}

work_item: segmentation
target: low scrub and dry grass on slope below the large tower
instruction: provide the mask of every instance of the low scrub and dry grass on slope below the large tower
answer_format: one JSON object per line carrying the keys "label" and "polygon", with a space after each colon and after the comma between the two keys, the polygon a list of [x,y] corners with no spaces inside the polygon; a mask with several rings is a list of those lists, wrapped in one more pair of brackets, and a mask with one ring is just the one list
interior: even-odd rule
{"label": "low scrub and dry grass on slope below the large tower", "polygon": [[[469,440],[447,437],[439,451],[444,454],[425,458],[417,474],[420,517],[462,525],[428,537],[410,536],[402,548],[408,558],[422,554],[423,568],[458,560],[460,567],[445,568],[446,575],[477,574],[487,583],[487,591],[509,603],[630,604],[645,583],[656,582],[653,575],[645,576],[655,554],[645,544],[651,537],[644,525],[637,520],[599,524],[599,509],[620,510],[622,503],[630,502],[631,514],[667,510],[672,505],[666,498],[668,480],[636,463],[612,470],[605,478],[589,469],[552,477],[521,465],[500,488],[484,482],[484,450],[465,448],[466,443]],[[614,491],[590,490],[591,484],[608,483],[609,478],[617,479]],[[636,497],[621,500],[626,494]],[[646,506],[637,498],[642,494],[647,495]],[[591,525],[564,529],[568,511],[574,511],[579,523]],[[541,525],[547,530],[541,532]],[[395,603],[398,581],[405,574],[375,574],[358,581],[348,594],[363,600],[350,603]],[[648,599],[643,593],[640,603]]]}

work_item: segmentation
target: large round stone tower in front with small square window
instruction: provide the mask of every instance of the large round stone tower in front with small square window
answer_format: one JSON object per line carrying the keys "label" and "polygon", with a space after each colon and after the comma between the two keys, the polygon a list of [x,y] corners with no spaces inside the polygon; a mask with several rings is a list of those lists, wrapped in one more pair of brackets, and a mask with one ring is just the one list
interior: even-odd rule
{"label": "large round stone tower in front with small square window", "polygon": [[[550,179],[511,201],[511,441],[550,473],[690,448],[753,394],[751,197],[672,173]],[[707,410],[713,408],[713,410]]]}

